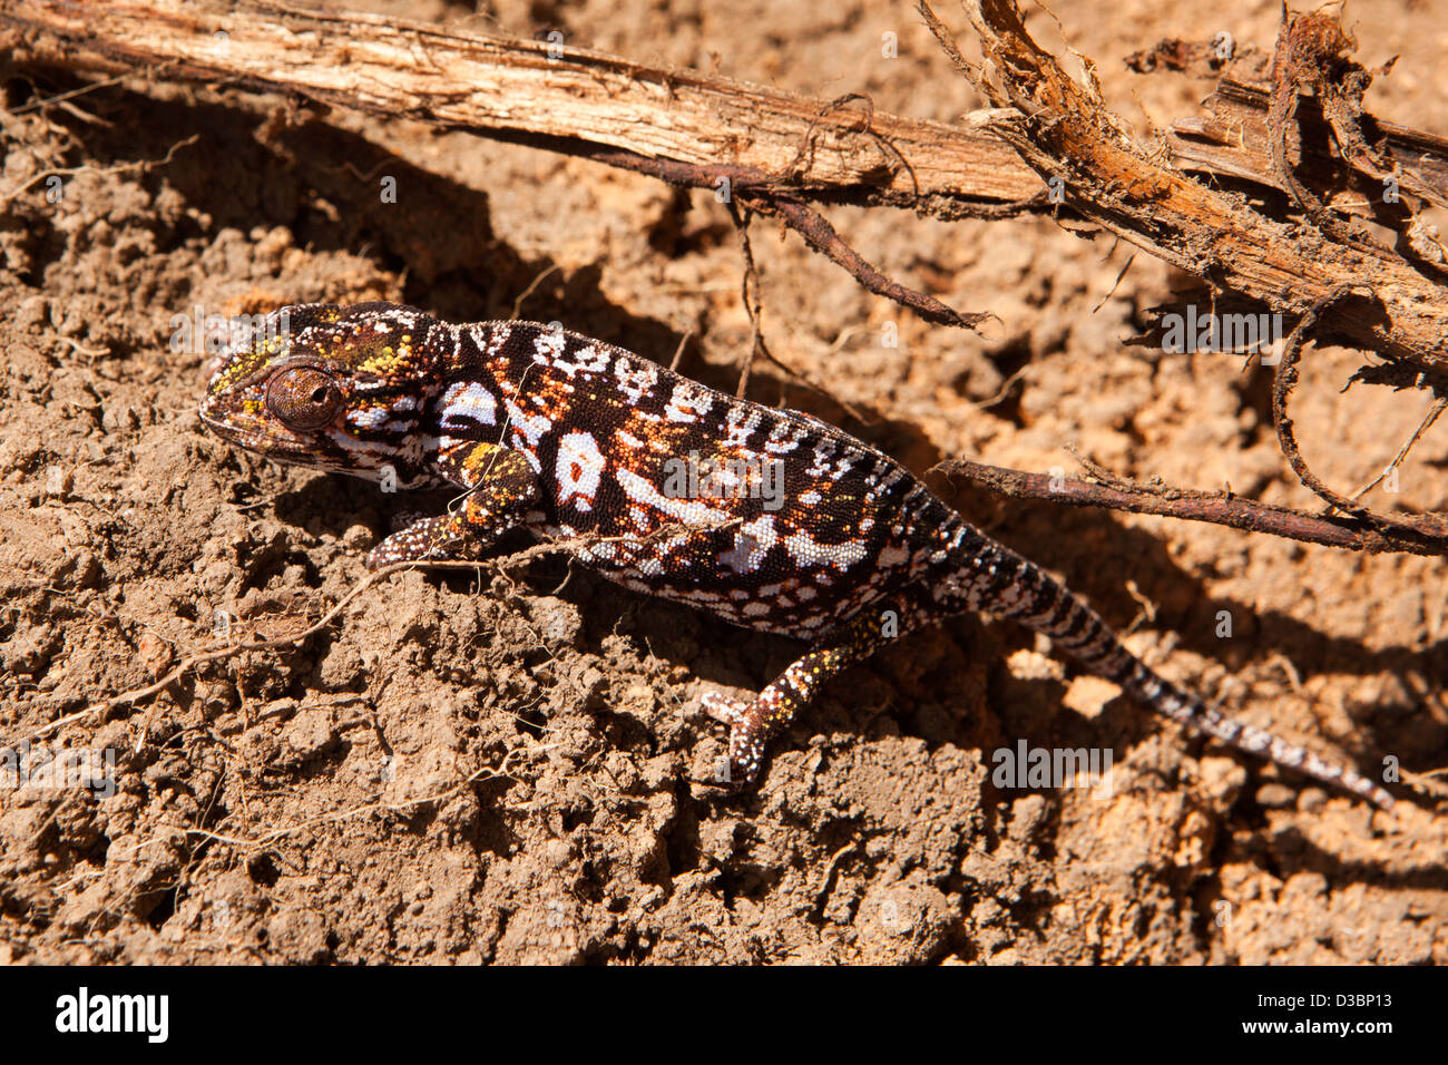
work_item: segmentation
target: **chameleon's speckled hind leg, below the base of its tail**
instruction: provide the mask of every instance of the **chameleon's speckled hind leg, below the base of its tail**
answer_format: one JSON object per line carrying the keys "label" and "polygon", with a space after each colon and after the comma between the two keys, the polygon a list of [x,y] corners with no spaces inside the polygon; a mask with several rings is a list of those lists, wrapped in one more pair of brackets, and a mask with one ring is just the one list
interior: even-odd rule
{"label": "chameleon's speckled hind leg, below the base of its tail", "polygon": [[909,591],[882,597],[824,633],[753,700],[746,703],[718,693],[704,696],[704,711],[730,730],[728,761],[720,782],[754,782],[769,740],[789,727],[801,707],[820,694],[824,682],[915,627],[921,616],[919,600]]}

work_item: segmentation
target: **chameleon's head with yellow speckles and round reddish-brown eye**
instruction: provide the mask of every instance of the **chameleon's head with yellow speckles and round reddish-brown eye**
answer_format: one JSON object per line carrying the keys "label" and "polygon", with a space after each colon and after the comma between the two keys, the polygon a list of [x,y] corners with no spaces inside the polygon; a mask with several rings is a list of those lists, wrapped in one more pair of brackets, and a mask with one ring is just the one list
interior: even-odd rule
{"label": "chameleon's head with yellow speckles and round reddish-brown eye", "polygon": [[246,323],[222,354],[201,425],[294,465],[432,483],[418,427],[433,325],[394,304],[282,307]]}

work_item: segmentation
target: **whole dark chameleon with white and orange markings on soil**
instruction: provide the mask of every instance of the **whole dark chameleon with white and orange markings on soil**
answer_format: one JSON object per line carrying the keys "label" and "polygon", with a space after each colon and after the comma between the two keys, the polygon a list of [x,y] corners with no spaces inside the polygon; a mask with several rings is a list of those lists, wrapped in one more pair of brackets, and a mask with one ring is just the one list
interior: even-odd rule
{"label": "whole dark chameleon with white and orange markings on soil", "polygon": [[[1171,720],[1393,803],[1358,772],[1158,677],[1044,569],[888,455],[556,326],[449,325],[388,303],[284,307],[223,354],[201,422],[281,462],[460,490],[449,513],[378,543],[371,568],[476,558],[523,526],[578,540],[581,564],[627,588],[807,640],[754,700],[705,697],[730,729],[734,782],[757,777],[766,742],[830,677],[914,627],[988,611]],[[704,472],[679,478],[682,461]],[[760,491],[766,481],[778,491]]]}

